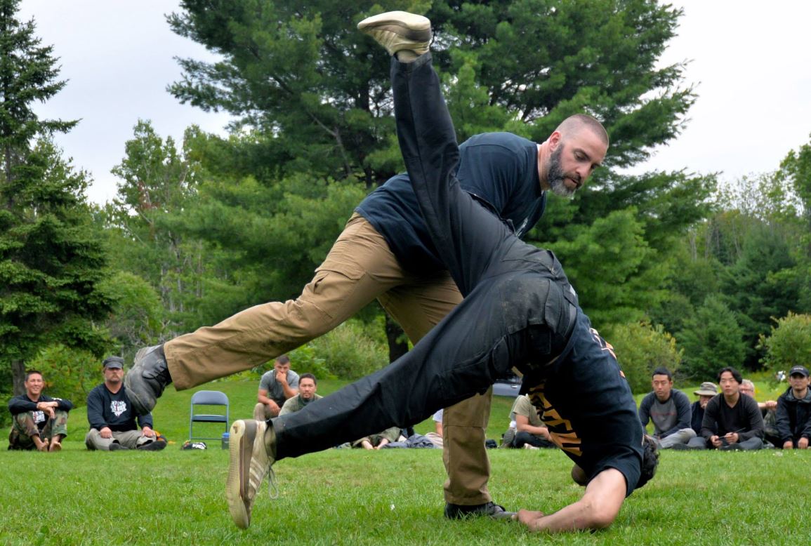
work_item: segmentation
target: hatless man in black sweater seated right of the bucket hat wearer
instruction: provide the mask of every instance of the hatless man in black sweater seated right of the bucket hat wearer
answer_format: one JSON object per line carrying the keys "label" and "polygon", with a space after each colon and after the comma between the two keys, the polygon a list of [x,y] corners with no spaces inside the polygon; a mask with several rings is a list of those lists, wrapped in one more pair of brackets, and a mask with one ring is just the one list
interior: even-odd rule
{"label": "hatless man in black sweater seated right of the bucket hat wearer", "polygon": [[718,450],[759,450],[763,418],[751,396],[740,395],[740,372],[723,368],[718,375],[721,394],[707,403],[702,420],[706,446]]}

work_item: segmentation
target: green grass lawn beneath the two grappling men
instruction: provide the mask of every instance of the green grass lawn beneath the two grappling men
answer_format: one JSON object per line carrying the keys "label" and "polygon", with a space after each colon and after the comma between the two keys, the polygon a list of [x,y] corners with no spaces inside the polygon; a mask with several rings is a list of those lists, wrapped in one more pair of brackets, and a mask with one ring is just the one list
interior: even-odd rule
{"label": "green grass lawn beneath the two grappling men", "polygon": [[[231,418],[251,416],[257,382],[227,381]],[[340,382],[320,382],[327,394]],[[694,387],[685,387],[692,394]],[[779,390],[778,390],[779,392]],[[762,395],[761,395],[762,394]],[[771,396],[758,390],[758,399]],[[607,531],[530,534],[516,523],[442,517],[440,450],[328,450],[276,465],[279,498],[257,498],[239,531],[225,506],[227,451],[182,451],[191,391],[169,388],[156,428],[161,452],[84,450],[84,407],[71,412],[61,454],[2,451],[0,544],[805,544],[809,451],[672,452]],[[693,396],[691,395],[691,399]],[[488,437],[507,424],[496,397]],[[430,422],[420,424],[426,432]],[[195,425],[195,431],[197,425]],[[201,429],[202,431],[203,429]],[[5,431],[7,434],[7,429]],[[219,436],[212,426],[212,436]],[[556,450],[491,450],[491,493],[508,509],[553,511],[575,501],[569,459]],[[266,484],[265,484],[266,485]]]}

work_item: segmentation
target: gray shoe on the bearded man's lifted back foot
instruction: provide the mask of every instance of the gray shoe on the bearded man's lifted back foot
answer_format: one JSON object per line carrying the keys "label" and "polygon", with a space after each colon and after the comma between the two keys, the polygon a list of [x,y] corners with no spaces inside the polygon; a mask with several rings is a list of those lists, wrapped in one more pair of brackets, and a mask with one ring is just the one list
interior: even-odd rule
{"label": "gray shoe on the bearded man's lifted back foot", "polygon": [[124,376],[127,399],[136,415],[152,412],[163,390],[172,382],[163,344],[146,347],[135,355],[135,363]]}

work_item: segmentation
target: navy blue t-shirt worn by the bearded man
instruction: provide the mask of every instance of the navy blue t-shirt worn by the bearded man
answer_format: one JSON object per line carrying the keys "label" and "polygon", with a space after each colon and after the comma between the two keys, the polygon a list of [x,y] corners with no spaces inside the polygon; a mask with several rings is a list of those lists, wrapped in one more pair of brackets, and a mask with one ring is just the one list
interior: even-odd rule
{"label": "navy blue t-shirt worn by the bearded man", "polygon": [[[459,147],[463,190],[524,237],[543,215],[538,145],[512,133],[483,133]],[[416,273],[445,269],[431,241],[407,174],[390,178],[355,209],[388,242],[402,267]]]}

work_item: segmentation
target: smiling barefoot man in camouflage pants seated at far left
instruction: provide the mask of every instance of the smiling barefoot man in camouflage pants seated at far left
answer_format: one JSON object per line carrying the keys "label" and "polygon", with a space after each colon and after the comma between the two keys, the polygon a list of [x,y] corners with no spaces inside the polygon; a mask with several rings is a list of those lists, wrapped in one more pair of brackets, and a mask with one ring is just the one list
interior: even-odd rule
{"label": "smiling barefoot man in camouflage pants seated at far left", "polygon": [[30,369],[25,373],[25,394],[8,401],[13,422],[8,435],[8,449],[59,451],[67,436],[67,412],[70,400],[43,395],[42,373]]}

